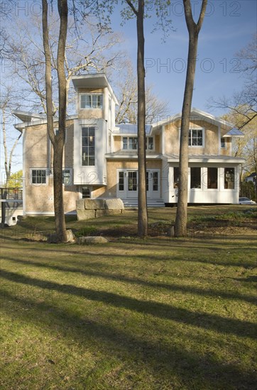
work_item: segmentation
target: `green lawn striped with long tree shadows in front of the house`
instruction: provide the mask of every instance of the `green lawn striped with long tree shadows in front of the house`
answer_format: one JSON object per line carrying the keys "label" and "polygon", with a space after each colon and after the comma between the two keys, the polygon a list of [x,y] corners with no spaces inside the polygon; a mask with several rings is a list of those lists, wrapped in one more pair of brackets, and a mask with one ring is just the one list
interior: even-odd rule
{"label": "green lawn striped with long tree shadows in front of the house", "polygon": [[67,218],[109,237],[94,246],[46,243],[53,218],[1,230],[1,389],[256,389],[247,211],[192,207],[183,239],[161,228],[175,208],[149,211],[146,240],[136,211]]}

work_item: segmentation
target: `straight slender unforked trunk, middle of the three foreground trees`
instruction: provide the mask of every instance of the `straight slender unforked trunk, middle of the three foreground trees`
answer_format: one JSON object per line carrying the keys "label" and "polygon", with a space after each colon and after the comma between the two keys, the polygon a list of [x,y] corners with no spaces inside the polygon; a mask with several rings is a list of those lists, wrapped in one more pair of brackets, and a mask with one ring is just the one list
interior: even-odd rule
{"label": "straight slender unforked trunk, middle of the three foreground trees", "polygon": [[138,37],[138,236],[148,234],[148,212],[146,199],[146,92],[143,35],[144,1],[138,1],[136,29]]}

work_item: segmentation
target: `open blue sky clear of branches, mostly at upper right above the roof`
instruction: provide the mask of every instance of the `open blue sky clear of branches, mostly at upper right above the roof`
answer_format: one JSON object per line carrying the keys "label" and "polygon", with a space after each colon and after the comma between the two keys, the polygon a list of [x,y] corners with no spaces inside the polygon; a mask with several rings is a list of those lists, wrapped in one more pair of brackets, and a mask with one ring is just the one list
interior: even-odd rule
{"label": "open blue sky clear of branches, mostly at upper right above the roof", "polygon": [[[35,2],[37,4],[35,4]],[[195,19],[198,18],[202,1],[192,0]],[[35,4],[38,11],[40,0],[19,1]],[[54,0],[56,3],[56,0]],[[161,31],[151,33],[154,18],[145,21],[145,65],[146,82],[153,85],[153,91],[160,99],[168,101],[170,114],[181,112],[185,87],[188,35],[185,17],[182,12],[182,0],[172,0],[170,18],[175,32],[165,43],[161,43]],[[238,72],[235,54],[246,47],[256,33],[256,0],[212,0],[207,6],[202,30],[199,33],[197,71],[192,106],[207,111],[207,101],[213,96],[232,96],[241,89],[244,79]],[[112,17],[112,28],[120,31],[124,37],[122,48],[128,52],[136,67],[136,21],[127,21],[120,26],[121,17],[116,9]],[[136,68],[135,68],[136,69]],[[224,111],[211,111],[214,115],[222,115]],[[4,150],[1,134],[1,172],[4,170]],[[16,150],[13,172],[22,168],[21,142]],[[2,176],[2,175],[1,175]]]}

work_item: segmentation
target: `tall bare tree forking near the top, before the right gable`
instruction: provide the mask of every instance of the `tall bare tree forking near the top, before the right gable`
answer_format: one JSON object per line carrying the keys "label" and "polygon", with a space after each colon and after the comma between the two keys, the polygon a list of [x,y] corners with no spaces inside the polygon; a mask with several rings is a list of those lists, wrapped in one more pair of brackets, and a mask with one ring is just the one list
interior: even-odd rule
{"label": "tall bare tree forking near the top, before the right gable", "polygon": [[188,171],[188,130],[190,126],[190,113],[192,106],[192,94],[195,83],[195,66],[197,60],[197,45],[199,31],[202,27],[207,0],[202,0],[199,19],[195,23],[192,16],[190,0],[183,0],[185,21],[189,33],[189,46],[187,56],[187,76],[185,81],[184,101],[182,106],[181,132],[180,132],[180,173],[177,199],[177,213],[175,219],[175,237],[187,235],[187,171]]}

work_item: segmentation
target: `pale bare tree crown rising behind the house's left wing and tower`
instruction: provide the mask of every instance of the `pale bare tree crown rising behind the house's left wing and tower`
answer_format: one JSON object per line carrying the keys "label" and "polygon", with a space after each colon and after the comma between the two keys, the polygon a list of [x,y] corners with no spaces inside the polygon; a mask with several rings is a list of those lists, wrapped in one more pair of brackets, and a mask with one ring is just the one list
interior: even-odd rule
{"label": "pale bare tree crown rising behind the house's left wing and tower", "polygon": [[[12,28],[8,38],[9,55],[6,62],[10,63],[11,72],[15,72],[23,82],[23,105],[33,110],[46,113],[46,94],[43,60],[43,40],[40,34],[40,20],[30,17],[26,21],[17,19],[16,28]],[[56,56],[58,52],[58,17],[55,12],[48,16],[50,57],[52,65],[53,111],[58,113],[58,67]],[[8,31],[8,27],[6,27]],[[119,57],[119,50],[114,50],[121,38],[118,34],[107,34],[100,31],[96,23],[87,18],[82,26],[75,28],[70,21],[67,28],[67,43],[65,49],[65,77],[67,88],[67,104],[73,101],[69,95],[70,80],[74,74],[84,72],[106,72],[113,67]]]}

